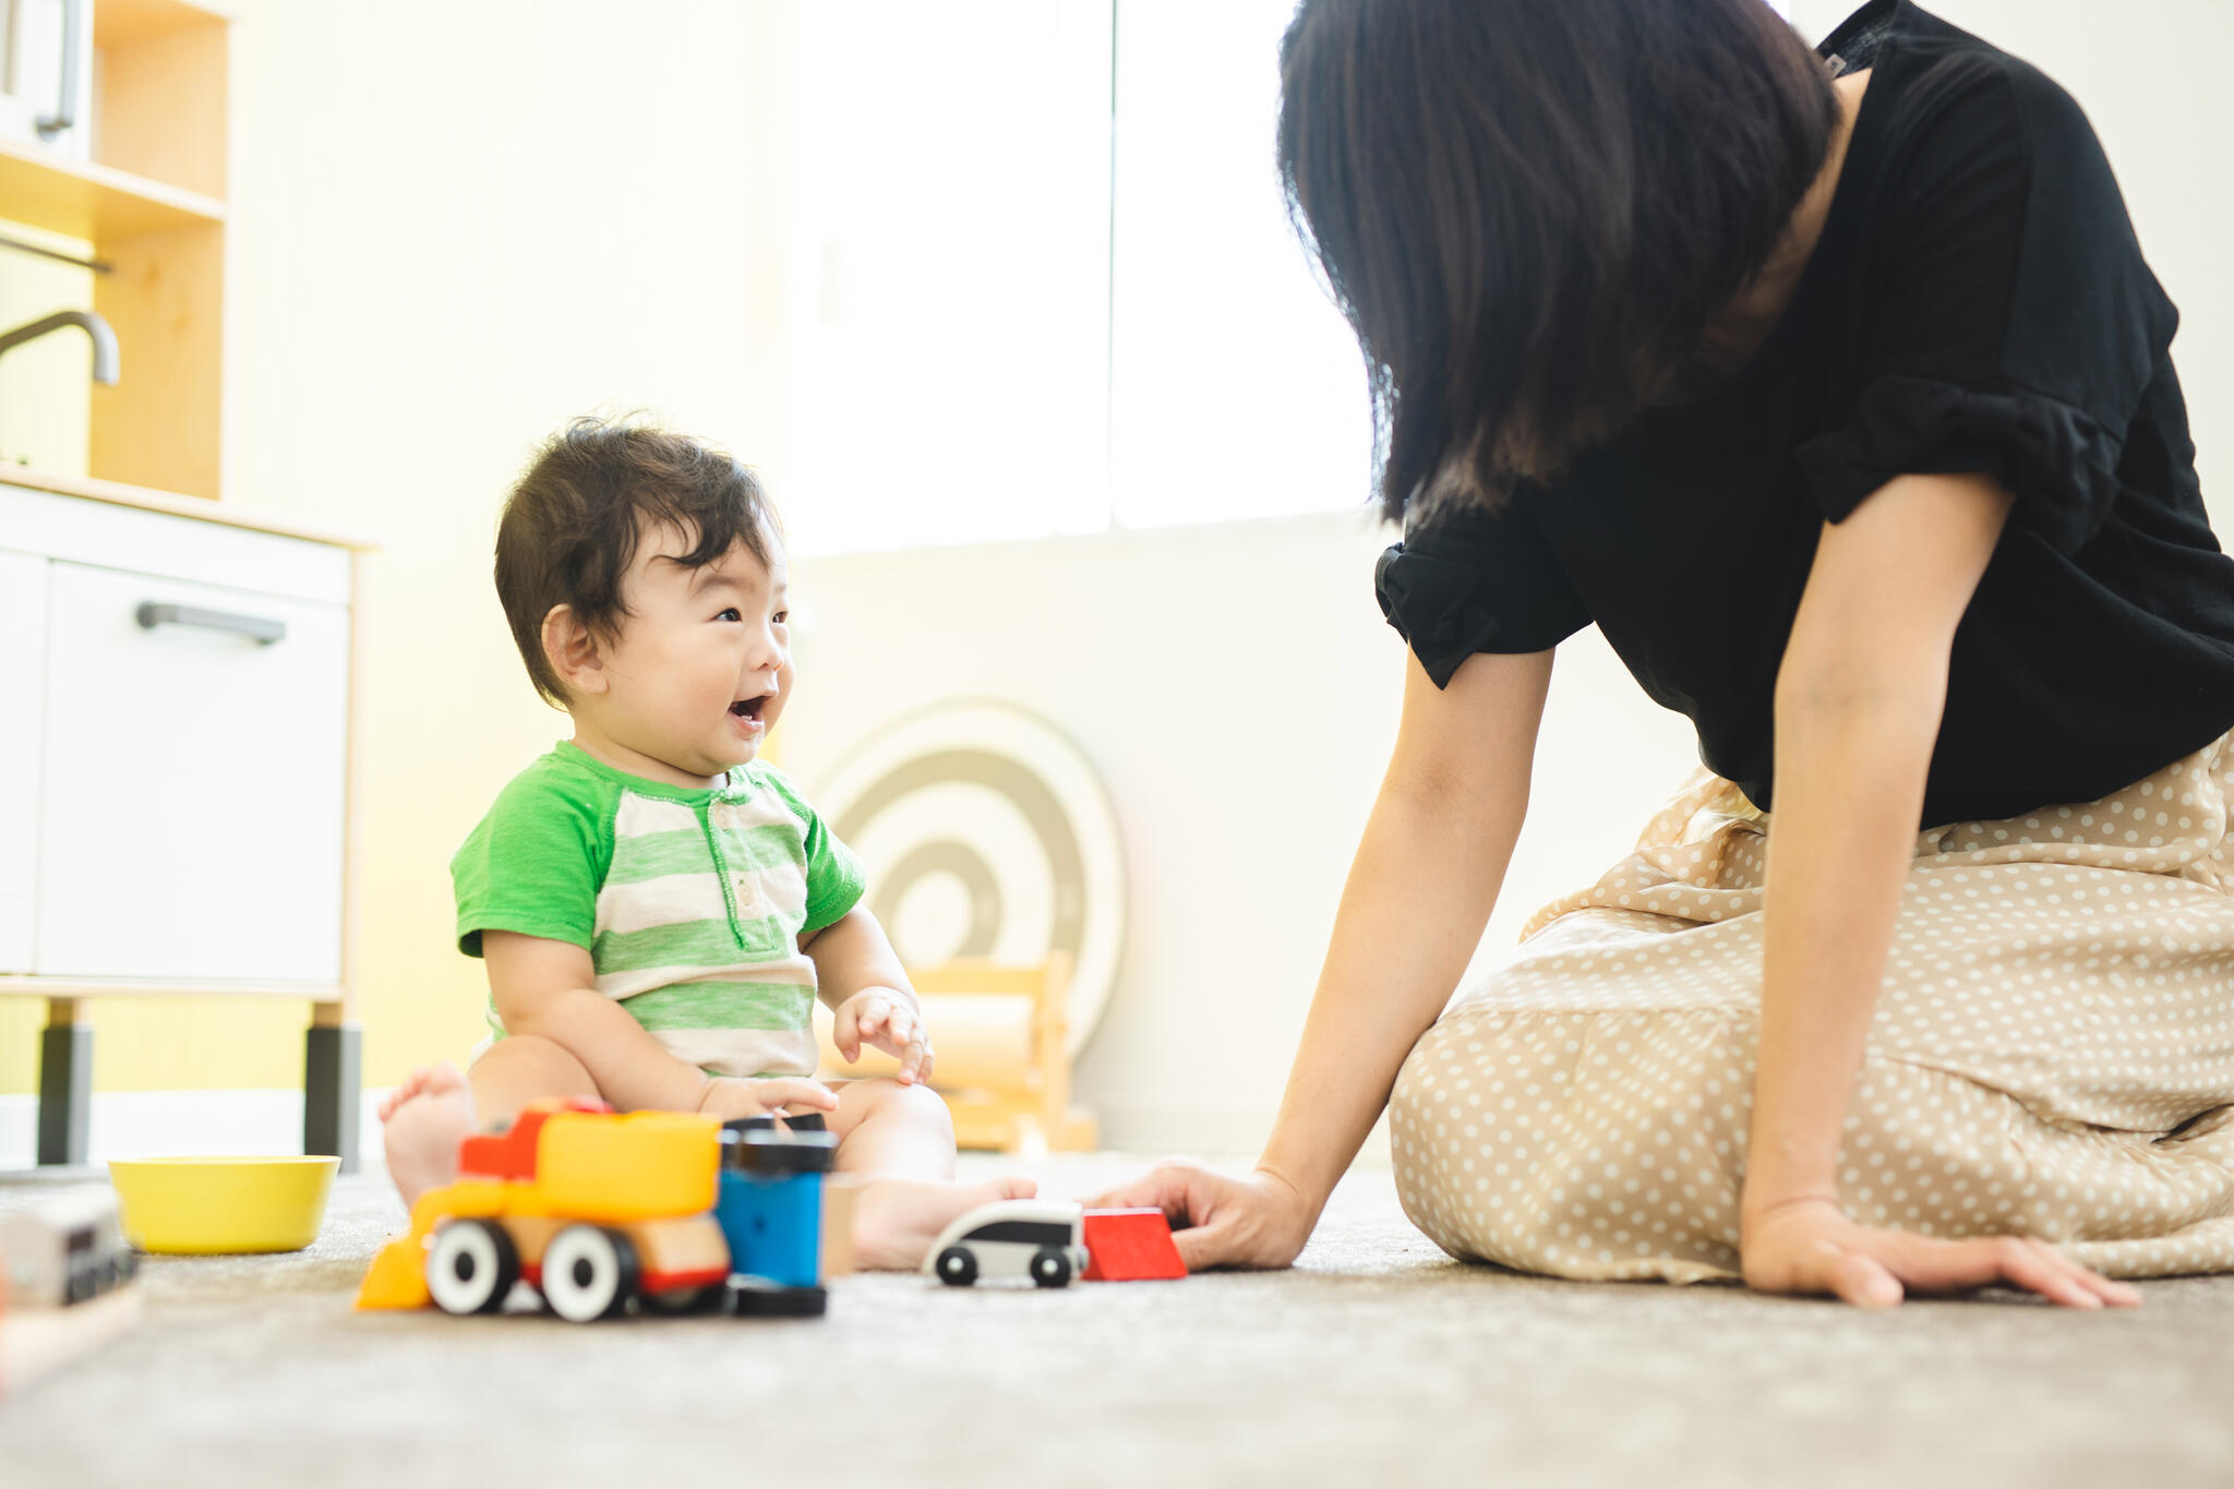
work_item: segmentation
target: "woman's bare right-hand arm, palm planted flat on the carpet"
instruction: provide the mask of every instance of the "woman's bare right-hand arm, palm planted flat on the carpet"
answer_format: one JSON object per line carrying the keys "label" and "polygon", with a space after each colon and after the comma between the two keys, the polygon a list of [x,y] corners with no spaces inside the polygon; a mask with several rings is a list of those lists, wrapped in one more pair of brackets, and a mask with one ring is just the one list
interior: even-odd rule
{"label": "woman's bare right-hand arm, palm planted flat on the carpet", "polygon": [[1839,1134],[1877,1011],[1946,712],[1955,627],[2008,520],[1979,475],[1901,475],[1825,527],[1776,681],[1760,1067],[1743,1197],[1745,1277],[1899,1301],[2015,1281],[2127,1301],[2044,1246],[1930,1241],[1845,1221]]}

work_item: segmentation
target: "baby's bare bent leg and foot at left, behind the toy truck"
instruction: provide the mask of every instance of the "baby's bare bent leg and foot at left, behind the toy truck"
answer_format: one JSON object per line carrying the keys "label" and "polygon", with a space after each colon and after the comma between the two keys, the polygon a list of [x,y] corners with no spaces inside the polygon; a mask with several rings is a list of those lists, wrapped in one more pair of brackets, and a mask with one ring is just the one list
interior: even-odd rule
{"label": "baby's bare bent leg and foot at left, behind the toy truck", "polygon": [[581,1060],[532,1034],[489,1045],[471,1076],[449,1060],[411,1072],[380,1107],[389,1176],[404,1205],[458,1176],[460,1139],[509,1123],[536,1096],[596,1096],[596,1085]]}

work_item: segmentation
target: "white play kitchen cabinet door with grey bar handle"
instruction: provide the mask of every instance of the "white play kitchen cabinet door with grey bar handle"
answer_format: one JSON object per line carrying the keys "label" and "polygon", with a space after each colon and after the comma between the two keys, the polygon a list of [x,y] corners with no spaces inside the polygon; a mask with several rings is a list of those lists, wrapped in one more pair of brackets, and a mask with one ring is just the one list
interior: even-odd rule
{"label": "white play kitchen cabinet door with grey bar handle", "polygon": [[54,563],[38,955],[340,982],[349,614]]}

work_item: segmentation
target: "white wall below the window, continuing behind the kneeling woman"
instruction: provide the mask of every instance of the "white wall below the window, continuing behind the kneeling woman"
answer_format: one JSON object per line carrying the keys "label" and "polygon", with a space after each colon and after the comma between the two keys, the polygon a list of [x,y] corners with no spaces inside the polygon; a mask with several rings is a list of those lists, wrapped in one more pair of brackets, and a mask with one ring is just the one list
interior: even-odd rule
{"label": "white wall below the window, continuing behind the kneeling woman", "polygon": [[[2234,205],[2203,185],[2234,138],[2212,76],[2234,54],[2234,7],[2160,0],[2113,42],[2093,7],[1937,9],[2046,67],[2095,121],[2185,310],[2198,464],[2234,534],[2214,475],[2234,469],[2234,286],[2218,272]],[[1794,11],[1810,40],[1845,16]],[[1401,652],[1369,592],[1385,540],[1358,518],[1305,518],[798,563],[813,630],[784,728],[804,781],[882,719],[974,692],[1037,708],[1106,772],[1133,926],[1079,1092],[1113,1145],[1249,1150],[1278,1107],[1394,739]],[[1687,723],[1646,703],[1595,632],[1562,647],[1535,806],[1477,964],[1539,902],[1595,880],[1691,766]]]}

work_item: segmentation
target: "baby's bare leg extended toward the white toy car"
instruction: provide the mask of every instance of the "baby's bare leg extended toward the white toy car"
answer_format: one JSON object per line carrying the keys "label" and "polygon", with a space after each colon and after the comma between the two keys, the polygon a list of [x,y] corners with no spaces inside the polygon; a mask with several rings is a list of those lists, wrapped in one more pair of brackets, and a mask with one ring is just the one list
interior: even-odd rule
{"label": "baby's bare leg extended toward the white toy car", "polygon": [[949,1221],[996,1199],[1030,1199],[1030,1179],[954,1181],[954,1118],[929,1087],[853,1080],[829,1118],[838,1172],[867,1179],[853,1205],[853,1255],[865,1268],[907,1270]]}

